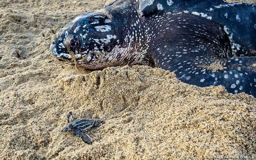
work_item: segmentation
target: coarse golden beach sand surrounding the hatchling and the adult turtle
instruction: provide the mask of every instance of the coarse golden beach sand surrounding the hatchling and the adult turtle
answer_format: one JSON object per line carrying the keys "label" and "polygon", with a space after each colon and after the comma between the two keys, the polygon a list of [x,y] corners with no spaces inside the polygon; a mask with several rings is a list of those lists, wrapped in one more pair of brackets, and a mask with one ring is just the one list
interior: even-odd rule
{"label": "coarse golden beach sand surrounding the hatchling and the adult turtle", "polygon": [[[147,66],[84,71],[58,63],[52,35],[102,0],[0,1],[0,159],[256,157],[256,99],[187,85]],[[66,116],[100,118],[92,145]]]}

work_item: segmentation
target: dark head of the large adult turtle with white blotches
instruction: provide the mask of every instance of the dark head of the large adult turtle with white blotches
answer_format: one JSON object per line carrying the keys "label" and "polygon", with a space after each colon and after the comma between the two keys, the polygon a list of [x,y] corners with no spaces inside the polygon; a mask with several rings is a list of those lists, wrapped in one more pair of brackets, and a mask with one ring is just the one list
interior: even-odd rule
{"label": "dark head of the large adult turtle with white blotches", "polygon": [[118,27],[105,9],[86,12],[62,28],[53,40],[51,53],[60,61],[86,69],[102,69],[119,44]]}

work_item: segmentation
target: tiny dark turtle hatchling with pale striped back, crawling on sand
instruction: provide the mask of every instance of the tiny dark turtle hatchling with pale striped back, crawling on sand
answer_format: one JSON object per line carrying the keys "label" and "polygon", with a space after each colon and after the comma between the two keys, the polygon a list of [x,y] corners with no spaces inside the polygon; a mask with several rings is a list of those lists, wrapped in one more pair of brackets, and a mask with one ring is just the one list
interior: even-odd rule
{"label": "tiny dark turtle hatchling with pale striped back, crawling on sand", "polygon": [[87,144],[92,144],[92,138],[88,136],[86,133],[83,133],[85,131],[90,130],[93,127],[100,126],[101,124],[104,124],[105,122],[103,120],[93,120],[93,119],[77,119],[73,121],[72,118],[73,112],[70,111],[68,113],[68,126],[65,126],[62,129],[62,132],[70,133],[70,134],[75,134],[77,137],[82,138],[82,140],[87,143]]}

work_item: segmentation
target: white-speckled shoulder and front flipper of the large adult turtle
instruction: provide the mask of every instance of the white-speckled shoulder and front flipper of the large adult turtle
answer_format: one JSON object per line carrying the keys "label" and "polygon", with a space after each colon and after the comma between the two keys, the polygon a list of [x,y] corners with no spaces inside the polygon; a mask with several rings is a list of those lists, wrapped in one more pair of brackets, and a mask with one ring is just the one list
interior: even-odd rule
{"label": "white-speckled shoulder and front flipper of the large adult turtle", "polygon": [[[170,22],[153,39],[156,67],[174,72],[188,84],[223,85],[230,93],[256,96],[256,57],[229,58],[231,46],[222,26],[191,14],[170,18],[178,23]],[[193,24],[186,23],[189,20]]]}

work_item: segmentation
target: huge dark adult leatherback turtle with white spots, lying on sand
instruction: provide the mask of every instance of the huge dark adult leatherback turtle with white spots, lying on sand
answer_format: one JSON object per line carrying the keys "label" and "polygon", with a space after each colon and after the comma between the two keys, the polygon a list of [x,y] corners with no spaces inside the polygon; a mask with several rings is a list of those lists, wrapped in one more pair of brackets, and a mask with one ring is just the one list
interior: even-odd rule
{"label": "huge dark adult leatherback turtle with white spots, lying on sand", "polygon": [[68,23],[51,52],[87,69],[150,65],[256,96],[255,17],[255,5],[222,0],[112,0]]}

